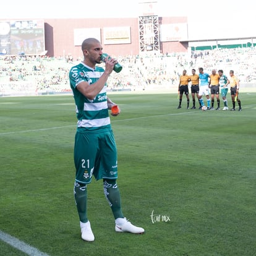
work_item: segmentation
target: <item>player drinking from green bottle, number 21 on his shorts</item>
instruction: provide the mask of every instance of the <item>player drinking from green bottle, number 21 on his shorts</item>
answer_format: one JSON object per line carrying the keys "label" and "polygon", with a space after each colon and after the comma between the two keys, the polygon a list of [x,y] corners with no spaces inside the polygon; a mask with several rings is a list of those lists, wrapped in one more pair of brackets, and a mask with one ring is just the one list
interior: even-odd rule
{"label": "player drinking from green bottle, number 21 on his shorts", "polygon": [[105,69],[96,66],[101,63],[102,46],[95,38],[83,41],[82,52],[83,61],[69,72],[78,119],[74,145],[74,196],[82,239],[88,242],[95,239],[87,218],[87,185],[92,176],[96,180],[103,179],[105,197],[116,223],[115,230],[141,234],[143,228],[124,218],[116,183],[117,149],[109,118],[109,109],[116,104],[106,95],[106,82],[117,61],[109,57]]}

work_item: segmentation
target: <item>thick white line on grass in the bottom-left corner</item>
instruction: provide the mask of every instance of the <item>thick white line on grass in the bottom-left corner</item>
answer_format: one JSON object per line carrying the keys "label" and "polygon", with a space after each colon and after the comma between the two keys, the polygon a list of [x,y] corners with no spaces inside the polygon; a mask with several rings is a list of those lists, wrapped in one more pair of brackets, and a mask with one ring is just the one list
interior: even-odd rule
{"label": "thick white line on grass in the bottom-left corner", "polygon": [[27,255],[49,256],[48,254],[45,254],[44,252],[40,252],[40,250],[36,249],[35,247],[25,244],[25,242],[22,242],[19,239],[2,232],[1,230],[0,230],[0,240],[6,242],[7,244],[20,250],[21,252],[25,252],[25,254]]}

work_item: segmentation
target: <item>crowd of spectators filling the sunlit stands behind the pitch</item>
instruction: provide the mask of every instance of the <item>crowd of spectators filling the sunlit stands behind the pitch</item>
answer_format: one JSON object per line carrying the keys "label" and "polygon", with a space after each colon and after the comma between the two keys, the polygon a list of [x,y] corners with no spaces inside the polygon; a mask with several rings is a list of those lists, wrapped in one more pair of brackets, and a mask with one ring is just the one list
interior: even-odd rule
{"label": "crowd of spectators filling the sunlit stands behind the pitch", "polygon": [[[256,48],[213,49],[192,53],[150,53],[142,56],[114,56],[124,66],[120,73],[113,72],[108,80],[109,89],[147,88],[150,85],[177,87],[179,75],[186,69],[203,67],[205,72],[233,69],[241,83],[256,83]],[[81,59],[72,56],[0,56],[0,95],[8,88],[70,92],[69,69]]]}

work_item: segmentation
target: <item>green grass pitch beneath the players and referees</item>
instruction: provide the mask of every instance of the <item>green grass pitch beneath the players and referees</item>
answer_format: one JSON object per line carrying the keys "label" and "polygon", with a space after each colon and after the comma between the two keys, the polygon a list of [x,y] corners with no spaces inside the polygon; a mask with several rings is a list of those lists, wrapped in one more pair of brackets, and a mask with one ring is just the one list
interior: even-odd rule
{"label": "green grass pitch beneath the players and referees", "polygon": [[256,93],[240,94],[242,112],[186,109],[185,97],[177,109],[168,93],[109,98],[123,211],[145,234],[115,233],[93,179],[95,241],[80,238],[72,95],[0,98],[0,230],[51,256],[256,255]]}

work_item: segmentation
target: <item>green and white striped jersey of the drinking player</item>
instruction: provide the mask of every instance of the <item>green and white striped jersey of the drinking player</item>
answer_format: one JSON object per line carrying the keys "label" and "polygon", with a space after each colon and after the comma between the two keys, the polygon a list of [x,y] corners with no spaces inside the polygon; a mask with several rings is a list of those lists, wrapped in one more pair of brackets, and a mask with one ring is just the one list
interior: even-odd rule
{"label": "green and white striped jersey of the drinking player", "polygon": [[88,67],[82,62],[69,71],[70,87],[72,88],[77,113],[77,130],[80,132],[100,132],[111,129],[106,84],[93,100],[89,100],[77,90],[79,83],[86,81],[93,86],[105,70],[102,67]]}

